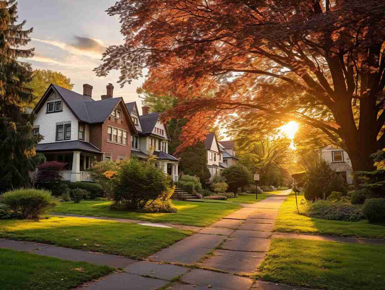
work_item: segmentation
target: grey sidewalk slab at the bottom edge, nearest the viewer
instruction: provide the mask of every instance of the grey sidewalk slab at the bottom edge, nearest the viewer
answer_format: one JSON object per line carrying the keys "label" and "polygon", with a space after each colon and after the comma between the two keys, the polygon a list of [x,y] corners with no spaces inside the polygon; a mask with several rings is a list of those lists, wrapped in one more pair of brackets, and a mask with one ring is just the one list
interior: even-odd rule
{"label": "grey sidewalk slab at the bottom edge, nearest the viewer", "polygon": [[87,290],[155,290],[169,282],[166,280],[142,277],[129,273],[112,274],[92,283],[85,283],[77,289]]}

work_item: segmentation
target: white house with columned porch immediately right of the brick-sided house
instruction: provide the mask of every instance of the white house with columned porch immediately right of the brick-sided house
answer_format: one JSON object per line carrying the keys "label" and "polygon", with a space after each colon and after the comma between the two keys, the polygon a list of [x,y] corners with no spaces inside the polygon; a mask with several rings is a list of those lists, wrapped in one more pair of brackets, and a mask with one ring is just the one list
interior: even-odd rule
{"label": "white house with columned porch immediately right of the brick-sided house", "polygon": [[170,139],[167,127],[159,119],[161,113],[150,114],[149,107],[143,106],[142,115],[139,115],[136,102],[126,103],[126,107],[137,130],[137,133],[131,136],[131,154],[138,158],[155,155],[157,159],[155,165],[177,181],[179,159],[168,154]]}

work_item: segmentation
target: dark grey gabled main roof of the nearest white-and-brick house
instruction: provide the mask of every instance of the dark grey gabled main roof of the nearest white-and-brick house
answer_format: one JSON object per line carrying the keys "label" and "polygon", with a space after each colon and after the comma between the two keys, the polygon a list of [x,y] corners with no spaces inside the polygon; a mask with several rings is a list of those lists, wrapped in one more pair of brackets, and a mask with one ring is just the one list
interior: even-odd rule
{"label": "dark grey gabled main roof of the nearest white-and-brick house", "polygon": [[[78,94],[77,92],[70,91],[59,85],[50,84],[47,91],[45,91],[43,97],[37,103],[33,112],[37,113],[44,105],[45,100],[50,95],[50,90],[57,92],[60,97],[64,100],[70,110],[75,114],[79,121],[86,122],[89,124],[102,123],[110,116],[112,110],[117,104],[124,101],[122,97],[109,98],[100,101],[95,101],[89,96]],[[129,116],[129,114],[128,114]],[[128,118],[133,131],[135,132],[135,126],[132,124],[131,117]]]}

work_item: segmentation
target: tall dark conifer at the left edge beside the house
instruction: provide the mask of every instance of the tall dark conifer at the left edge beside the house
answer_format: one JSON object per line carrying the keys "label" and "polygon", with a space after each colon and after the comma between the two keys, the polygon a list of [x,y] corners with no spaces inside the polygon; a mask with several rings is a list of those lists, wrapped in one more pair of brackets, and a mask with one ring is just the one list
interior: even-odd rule
{"label": "tall dark conifer at the left edge beside the house", "polygon": [[32,136],[33,114],[20,106],[32,101],[32,90],[24,87],[31,80],[29,63],[19,57],[33,56],[34,49],[19,49],[30,42],[32,28],[23,30],[25,20],[16,24],[16,0],[0,0],[0,192],[30,183],[28,171],[37,159],[34,146],[41,136]]}

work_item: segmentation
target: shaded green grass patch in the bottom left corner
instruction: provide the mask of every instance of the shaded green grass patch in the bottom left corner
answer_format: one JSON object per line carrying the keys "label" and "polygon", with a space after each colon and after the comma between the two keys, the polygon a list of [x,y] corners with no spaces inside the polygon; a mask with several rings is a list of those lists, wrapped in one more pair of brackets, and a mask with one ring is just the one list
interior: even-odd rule
{"label": "shaded green grass patch in the bottom left corner", "polygon": [[0,249],[2,290],[64,290],[111,273],[114,269],[86,262]]}

